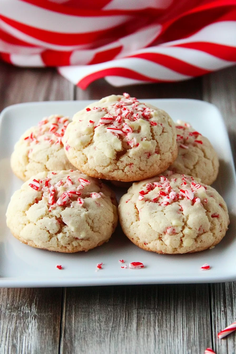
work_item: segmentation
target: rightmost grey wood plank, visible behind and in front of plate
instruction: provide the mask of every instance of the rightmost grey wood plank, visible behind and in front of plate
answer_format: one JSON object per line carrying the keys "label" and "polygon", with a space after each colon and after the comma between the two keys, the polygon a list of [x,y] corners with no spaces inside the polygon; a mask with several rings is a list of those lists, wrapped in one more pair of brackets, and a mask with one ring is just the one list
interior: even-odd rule
{"label": "rightmost grey wood plank, visible behind and in front of plate", "polygon": [[[204,76],[203,99],[215,104],[223,114],[235,159],[236,67]],[[235,354],[236,333],[224,339],[218,339],[217,333],[236,321],[236,283],[212,284],[211,298],[214,348],[217,354]]]}

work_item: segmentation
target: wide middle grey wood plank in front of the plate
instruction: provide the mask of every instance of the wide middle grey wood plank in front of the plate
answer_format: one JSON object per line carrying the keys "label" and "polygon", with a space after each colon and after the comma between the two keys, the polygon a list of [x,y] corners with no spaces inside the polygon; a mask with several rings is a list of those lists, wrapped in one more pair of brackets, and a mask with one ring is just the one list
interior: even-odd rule
{"label": "wide middle grey wood plank in front of the plate", "polygon": [[67,288],[61,354],[204,353],[211,346],[207,288]]}

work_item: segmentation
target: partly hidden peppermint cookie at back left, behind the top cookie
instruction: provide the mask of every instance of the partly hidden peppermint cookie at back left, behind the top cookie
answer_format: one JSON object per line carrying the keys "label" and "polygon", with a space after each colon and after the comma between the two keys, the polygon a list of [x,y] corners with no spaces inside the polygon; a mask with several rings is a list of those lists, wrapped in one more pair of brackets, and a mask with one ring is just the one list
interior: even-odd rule
{"label": "partly hidden peppermint cookie at back left, behind the top cookie", "polygon": [[27,181],[38,172],[74,169],[62,144],[69,122],[68,117],[51,115],[21,136],[11,155],[11,168],[17,177]]}

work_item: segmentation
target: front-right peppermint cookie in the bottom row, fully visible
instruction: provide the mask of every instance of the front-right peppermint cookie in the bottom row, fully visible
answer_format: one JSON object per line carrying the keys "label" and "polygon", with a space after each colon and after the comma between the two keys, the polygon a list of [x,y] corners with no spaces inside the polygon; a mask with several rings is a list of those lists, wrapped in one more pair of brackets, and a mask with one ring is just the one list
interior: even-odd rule
{"label": "front-right peppermint cookie in the bottom row, fully visible", "polygon": [[118,207],[123,232],[157,253],[197,252],[218,244],[228,229],[227,206],[199,181],[176,174],[133,183]]}

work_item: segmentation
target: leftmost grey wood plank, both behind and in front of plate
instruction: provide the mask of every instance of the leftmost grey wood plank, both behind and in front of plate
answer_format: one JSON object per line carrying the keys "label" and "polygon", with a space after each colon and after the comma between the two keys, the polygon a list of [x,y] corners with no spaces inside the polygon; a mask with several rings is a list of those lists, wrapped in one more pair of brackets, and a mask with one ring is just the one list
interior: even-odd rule
{"label": "leftmost grey wood plank, both behind and in front of plate", "polygon": [[[0,63],[0,108],[10,104],[73,99],[74,88],[53,69]],[[0,289],[0,353],[57,354],[62,289]]]}

